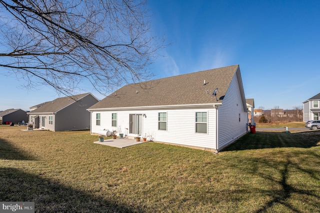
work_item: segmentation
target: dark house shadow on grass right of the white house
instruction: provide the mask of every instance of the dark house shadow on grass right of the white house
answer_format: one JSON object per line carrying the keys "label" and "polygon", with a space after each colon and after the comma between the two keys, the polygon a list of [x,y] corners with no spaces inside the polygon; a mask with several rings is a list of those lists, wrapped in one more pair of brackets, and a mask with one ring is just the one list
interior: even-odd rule
{"label": "dark house shadow on grass right of the white house", "polygon": [[247,133],[221,151],[262,149],[277,147],[310,148],[320,143],[320,130],[304,132],[256,132]]}

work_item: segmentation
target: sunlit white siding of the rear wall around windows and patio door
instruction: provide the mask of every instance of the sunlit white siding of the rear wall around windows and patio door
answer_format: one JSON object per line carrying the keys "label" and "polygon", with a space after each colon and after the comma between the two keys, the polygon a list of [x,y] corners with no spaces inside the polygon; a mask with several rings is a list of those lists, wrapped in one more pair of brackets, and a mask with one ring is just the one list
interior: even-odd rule
{"label": "sunlit white siding of the rear wall around windows and patio door", "polygon": [[[215,148],[215,109],[211,108],[179,108],[179,109],[151,109],[151,110],[130,110],[130,111],[94,111],[91,116],[91,132],[98,133],[99,130],[113,130],[111,126],[111,114],[117,113],[118,126],[125,133],[129,128],[129,114],[145,114],[142,116],[142,132],[152,135],[155,141],[183,144],[189,146]],[[158,130],[158,112],[166,112],[167,129]],[[207,133],[195,132],[195,112],[207,112]],[[95,125],[95,115],[100,113],[101,124]],[[135,136],[134,134],[128,134]]]}

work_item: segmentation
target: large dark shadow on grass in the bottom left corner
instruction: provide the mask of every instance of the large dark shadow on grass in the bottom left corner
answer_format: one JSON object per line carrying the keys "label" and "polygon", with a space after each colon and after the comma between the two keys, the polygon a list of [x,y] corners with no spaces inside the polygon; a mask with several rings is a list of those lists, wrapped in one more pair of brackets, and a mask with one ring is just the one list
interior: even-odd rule
{"label": "large dark shadow on grass in the bottom left corner", "polygon": [[0,168],[0,200],[35,202],[35,212],[143,212],[16,168]]}

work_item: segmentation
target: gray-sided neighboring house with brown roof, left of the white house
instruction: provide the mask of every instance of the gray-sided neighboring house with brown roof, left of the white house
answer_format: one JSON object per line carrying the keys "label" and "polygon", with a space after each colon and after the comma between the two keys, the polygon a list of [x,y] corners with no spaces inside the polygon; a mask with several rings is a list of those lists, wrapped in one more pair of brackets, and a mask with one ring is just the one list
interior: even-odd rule
{"label": "gray-sided neighboring house with brown roof, left of the white house", "polygon": [[90,128],[90,113],[86,110],[99,100],[91,93],[59,97],[30,107],[29,122],[34,128],[52,131]]}

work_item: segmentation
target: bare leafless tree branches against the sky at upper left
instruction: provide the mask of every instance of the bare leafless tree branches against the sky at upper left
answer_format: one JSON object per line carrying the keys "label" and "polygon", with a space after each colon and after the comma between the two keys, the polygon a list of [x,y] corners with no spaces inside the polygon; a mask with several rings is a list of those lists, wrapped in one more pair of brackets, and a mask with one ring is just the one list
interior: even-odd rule
{"label": "bare leafless tree branches against the sky at upper left", "polygon": [[29,87],[106,94],[152,76],[163,42],[148,18],[144,0],[0,0],[0,66]]}

